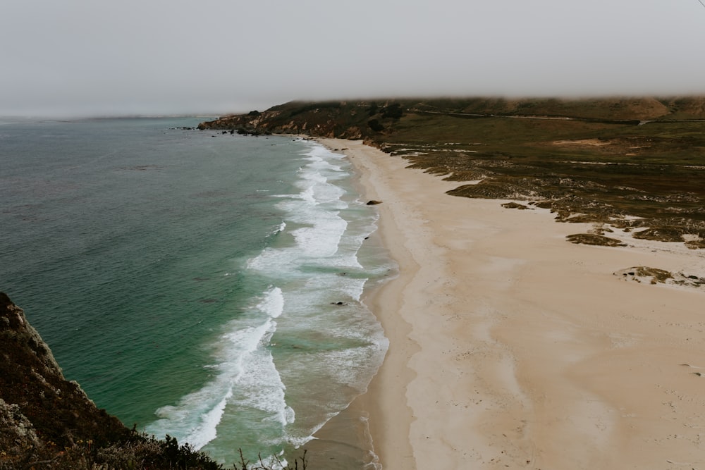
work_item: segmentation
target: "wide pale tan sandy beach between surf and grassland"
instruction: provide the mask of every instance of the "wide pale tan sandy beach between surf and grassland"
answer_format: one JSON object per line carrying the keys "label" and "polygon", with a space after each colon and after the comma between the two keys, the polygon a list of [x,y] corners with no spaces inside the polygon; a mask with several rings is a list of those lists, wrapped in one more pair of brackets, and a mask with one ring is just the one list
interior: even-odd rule
{"label": "wide pale tan sandy beach between surf and grassland", "polygon": [[608,235],[627,247],[573,245],[591,225],[452,197],[460,183],[400,157],[320,142],[382,202],[377,235],[400,273],[365,299],[384,364],[319,445],[367,439],[350,429],[369,415],[384,470],[705,468],[705,291],[614,274],[702,277],[704,250],[621,231]]}

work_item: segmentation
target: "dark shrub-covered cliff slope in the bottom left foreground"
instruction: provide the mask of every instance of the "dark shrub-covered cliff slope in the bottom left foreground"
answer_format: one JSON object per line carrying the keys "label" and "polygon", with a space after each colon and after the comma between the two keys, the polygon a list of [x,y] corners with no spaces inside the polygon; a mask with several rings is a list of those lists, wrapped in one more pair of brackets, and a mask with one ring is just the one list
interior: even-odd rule
{"label": "dark shrub-covered cliff slope in the bottom left foreground", "polygon": [[96,407],[22,309],[0,292],[0,470],[220,469],[176,439],[148,438]]}

